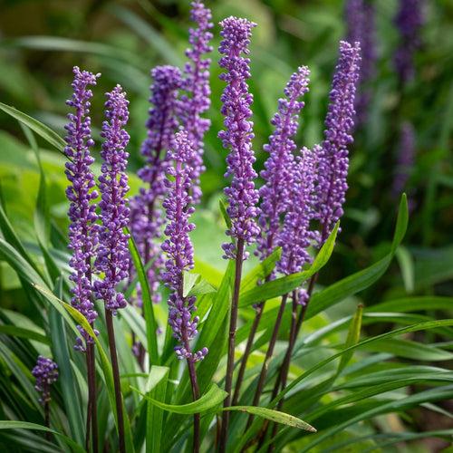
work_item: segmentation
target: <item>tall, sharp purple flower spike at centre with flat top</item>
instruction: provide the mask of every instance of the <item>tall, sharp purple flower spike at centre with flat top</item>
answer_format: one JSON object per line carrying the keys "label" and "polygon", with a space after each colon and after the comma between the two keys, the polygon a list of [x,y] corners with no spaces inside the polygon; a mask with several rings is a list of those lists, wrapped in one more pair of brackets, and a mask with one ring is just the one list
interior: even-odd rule
{"label": "tall, sharp purple flower spike at centre with flat top", "polygon": [[[221,130],[218,137],[222,140],[223,147],[229,149],[226,158],[225,177],[233,177],[229,188],[225,189],[228,198],[227,213],[231,218],[232,226],[226,231],[226,235],[235,239],[241,239],[246,245],[250,245],[259,235],[259,227],[255,218],[259,210],[258,191],[255,189],[254,179],[256,172],[253,169],[255,154],[252,149],[254,138],[253,122],[250,106],[253,96],[248,92],[246,80],[250,78],[250,60],[242,56],[247,54],[252,28],[255,24],[246,19],[227,17],[220,25],[223,41],[218,51],[224,56],[219,65],[226,72],[220,75],[220,79],[226,82],[226,88],[222,94],[222,114],[225,116],[226,130]],[[236,244],[226,243],[222,246],[226,259],[235,259]],[[246,259],[247,254],[244,254]]]}

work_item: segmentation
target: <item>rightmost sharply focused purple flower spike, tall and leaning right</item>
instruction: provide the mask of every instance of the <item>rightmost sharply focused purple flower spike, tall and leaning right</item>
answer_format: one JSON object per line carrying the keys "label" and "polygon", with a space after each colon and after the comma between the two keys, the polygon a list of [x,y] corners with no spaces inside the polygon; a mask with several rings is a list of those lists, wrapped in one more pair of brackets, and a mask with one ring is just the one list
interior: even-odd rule
{"label": "rightmost sharply focused purple flower spike, tall and leaning right", "polygon": [[348,145],[353,141],[354,97],[360,71],[360,44],[340,43],[340,57],[333,75],[324,140],[319,149],[316,209],[322,227],[321,244],[342,217],[348,184]]}

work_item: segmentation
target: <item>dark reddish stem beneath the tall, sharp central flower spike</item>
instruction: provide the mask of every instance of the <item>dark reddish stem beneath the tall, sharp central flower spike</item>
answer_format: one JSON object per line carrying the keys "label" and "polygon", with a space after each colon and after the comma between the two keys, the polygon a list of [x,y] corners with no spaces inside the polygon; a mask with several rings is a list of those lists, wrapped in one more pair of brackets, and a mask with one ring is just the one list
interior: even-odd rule
{"label": "dark reddish stem beneath the tall, sharp central flower spike", "polygon": [[[239,308],[239,291],[241,289],[243,261],[244,261],[244,239],[237,239],[235,287],[233,291],[233,299],[231,300],[231,313],[229,320],[228,356],[226,363],[226,378],[225,378],[226,399],[224,400],[224,408],[227,408],[231,405],[231,389],[233,387],[233,371],[235,368],[237,312]],[[226,452],[228,423],[229,423],[229,410],[224,410],[224,413],[222,415],[222,429],[220,431],[220,442],[219,442],[220,453]]]}

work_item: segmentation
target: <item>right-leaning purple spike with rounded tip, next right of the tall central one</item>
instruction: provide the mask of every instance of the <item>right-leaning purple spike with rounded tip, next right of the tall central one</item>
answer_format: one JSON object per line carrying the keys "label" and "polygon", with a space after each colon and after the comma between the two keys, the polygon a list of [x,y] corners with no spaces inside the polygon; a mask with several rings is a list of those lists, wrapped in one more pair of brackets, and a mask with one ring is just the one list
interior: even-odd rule
{"label": "right-leaning purple spike with rounded tip, next right of the tall central one", "polygon": [[262,259],[270,255],[275,247],[275,240],[280,230],[280,218],[291,207],[290,197],[293,185],[294,136],[299,125],[299,112],[304,102],[299,99],[308,92],[310,71],[301,66],[291,76],[284,89],[285,98],[278,101],[278,111],[272,124],[274,133],[264,149],[269,153],[261,177],[265,185],[259,190],[262,198],[259,226],[261,236],[258,238],[257,253]]}

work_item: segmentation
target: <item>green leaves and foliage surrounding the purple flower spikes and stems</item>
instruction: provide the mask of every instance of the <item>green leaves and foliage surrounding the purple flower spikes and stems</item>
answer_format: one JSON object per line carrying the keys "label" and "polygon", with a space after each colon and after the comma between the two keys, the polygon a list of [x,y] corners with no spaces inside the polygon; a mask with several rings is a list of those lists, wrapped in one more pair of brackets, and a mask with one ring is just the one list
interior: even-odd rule
{"label": "green leaves and foliage surrounding the purple flower spikes and stems", "polygon": [[[206,449],[213,441],[209,422],[222,400],[224,318],[233,273],[220,251],[225,222],[218,200],[226,186],[226,153],[217,139],[223,121],[219,112],[223,83],[217,77],[217,23],[226,15],[237,14],[258,24],[250,81],[255,95],[256,169],[261,169],[265,160],[262,146],[272,131],[269,120],[277,99],[300,64],[308,65],[312,76],[297,142],[313,146],[322,140],[338,41],[345,34],[341,1],[222,0],[207,5],[216,24],[213,95],[208,112],[212,127],[206,140],[207,172],[201,181],[204,198],[194,216],[197,229],[192,235],[194,272],[201,277],[191,288],[198,295],[202,319],[198,342],[210,350],[198,366],[201,389],[210,392],[209,398],[205,395],[200,401],[205,406],[198,406],[206,412],[202,419]],[[398,448],[408,451],[432,451],[447,448],[451,439],[453,415],[448,400],[453,397],[453,376],[448,370],[453,358],[453,322],[448,318],[453,313],[453,5],[439,0],[426,6],[423,45],[416,55],[417,75],[401,91],[391,64],[398,43],[391,22],[396,2],[376,2],[379,62],[369,87],[369,120],[355,133],[342,232],[307,312],[308,321],[290,370],[293,388],[284,405],[285,412],[310,423],[318,433],[281,429],[277,445],[286,446],[287,451],[396,451],[397,443]],[[38,123],[35,133],[30,134],[14,115],[0,111],[0,419],[5,420],[0,421],[0,446],[53,451],[54,446],[34,430],[43,428],[32,425],[43,423],[29,371],[36,355],[53,355],[60,365],[52,414],[53,429],[59,433],[53,442],[59,448],[68,448],[73,442],[83,444],[86,398],[83,360],[72,351],[75,326],[71,316],[76,313],[66,312],[60,302],[69,300],[67,181],[65,158],[58,152],[61,139],[54,134],[64,134],[64,101],[71,92],[72,66],[102,73],[92,102],[95,139],[99,138],[103,92],[117,82],[128,91],[130,186],[134,194],[140,187],[134,174],[142,165],[140,143],[146,136],[149,69],[160,63],[183,64],[189,5],[180,0],[3,0],[0,7],[0,101],[54,131],[43,130]],[[417,154],[406,187],[409,221],[403,202],[392,246],[400,199],[391,195],[390,187],[403,120],[410,120],[415,127]],[[28,125],[33,129],[33,124]],[[99,140],[96,146],[97,157]],[[99,163],[94,167],[99,172]],[[140,260],[136,259],[135,265],[140,270]],[[250,304],[263,294],[255,280],[256,275],[265,275],[265,270],[257,266],[255,258],[246,263],[244,282],[249,286],[241,294],[238,342],[246,340],[254,316]],[[140,284],[145,286],[142,277]],[[266,304],[261,336],[246,371],[246,389],[254,388],[278,310],[276,297],[294,287],[290,280],[279,282]],[[357,321],[358,304],[364,307],[361,322]],[[446,321],[437,322],[439,319]],[[122,333],[123,394],[133,429],[133,436],[130,431],[128,434],[130,450],[132,444],[140,449],[147,439],[149,451],[181,451],[191,421],[184,414],[192,412],[187,407],[181,412],[189,402],[188,376],[178,376],[172,343],[165,334],[154,334],[156,323],[166,324],[165,304],[154,306],[145,320],[129,307],[115,323]],[[282,359],[289,323],[288,310],[269,380]],[[418,327],[407,327],[413,325]],[[130,329],[148,344],[149,351],[159,352],[159,366],[149,375],[140,373],[130,352]],[[108,349],[105,334],[101,333],[99,344],[99,379],[106,384],[100,395],[100,430],[107,433],[106,439],[113,437],[114,445],[114,421],[109,417],[114,411],[114,404],[109,403],[111,368],[102,353]],[[340,354],[339,361],[333,361],[335,354]],[[211,386],[212,382],[218,387]],[[240,401],[243,406],[251,403],[247,393],[251,391],[245,390]],[[74,404],[74,399],[81,403]],[[162,404],[151,404],[152,400],[178,408],[169,412]],[[262,412],[263,417],[268,415],[265,409]],[[232,414],[232,445],[236,448],[232,451],[246,442],[241,438],[245,419],[240,412]],[[14,425],[10,420],[28,424]],[[253,436],[261,422],[255,418],[248,436]],[[150,426],[162,427],[161,438],[150,437]]]}

